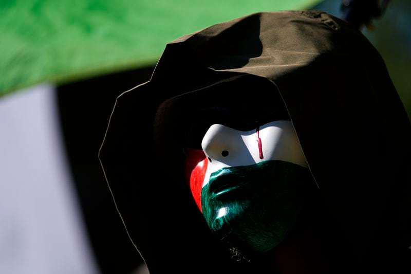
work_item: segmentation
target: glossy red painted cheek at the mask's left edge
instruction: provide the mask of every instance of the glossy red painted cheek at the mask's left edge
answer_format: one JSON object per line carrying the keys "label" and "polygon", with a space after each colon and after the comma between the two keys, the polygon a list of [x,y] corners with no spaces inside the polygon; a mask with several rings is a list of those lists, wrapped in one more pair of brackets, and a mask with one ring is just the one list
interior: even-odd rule
{"label": "glossy red painted cheek at the mask's left edge", "polygon": [[202,150],[186,149],[185,179],[190,184],[191,193],[197,207],[201,210],[201,188],[206,175],[208,160]]}

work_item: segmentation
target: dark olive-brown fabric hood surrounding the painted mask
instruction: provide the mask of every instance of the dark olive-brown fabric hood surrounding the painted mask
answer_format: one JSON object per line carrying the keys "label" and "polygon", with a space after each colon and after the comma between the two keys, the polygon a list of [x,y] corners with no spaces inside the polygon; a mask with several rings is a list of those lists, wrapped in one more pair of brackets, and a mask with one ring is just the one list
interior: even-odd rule
{"label": "dark olive-brown fabric hood surrounding the painted mask", "polygon": [[281,95],[353,260],[406,254],[411,126],[379,52],[327,13],[261,12],[167,44],[151,80],[116,101],[100,160],[151,273],[225,260],[181,179],[181,139],[196,104],[233,92],[210,87],[241,77],[269,91],[244,86],[235,100]]}

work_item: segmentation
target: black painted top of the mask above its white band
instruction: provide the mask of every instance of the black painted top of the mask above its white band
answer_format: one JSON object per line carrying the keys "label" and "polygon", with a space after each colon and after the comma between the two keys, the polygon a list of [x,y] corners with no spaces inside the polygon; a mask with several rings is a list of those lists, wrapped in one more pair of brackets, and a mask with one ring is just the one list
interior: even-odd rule
{"label": "black painted top of the mask above its white band", "polygon": [[[250,131],[277,120],[291,120],[275,86],[264,79],[243,77],[198,92],[190,114],[185,147],[201,149],[201,140],[212,124]],[[202,95],[202,96],[201,96]]]}

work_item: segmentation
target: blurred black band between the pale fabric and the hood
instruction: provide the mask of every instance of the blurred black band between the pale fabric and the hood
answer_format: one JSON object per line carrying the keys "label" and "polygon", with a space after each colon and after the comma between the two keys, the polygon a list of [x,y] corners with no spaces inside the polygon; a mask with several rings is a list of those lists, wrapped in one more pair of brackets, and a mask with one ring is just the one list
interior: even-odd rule
{"label": "blurred black band between the pale fabric and the hood", "polygon": [[129,240],[98,159],[117,96],[150,80],[153,67],[58,87],[58,105],[84,222],[102,274],[129,274],[143,261]]}

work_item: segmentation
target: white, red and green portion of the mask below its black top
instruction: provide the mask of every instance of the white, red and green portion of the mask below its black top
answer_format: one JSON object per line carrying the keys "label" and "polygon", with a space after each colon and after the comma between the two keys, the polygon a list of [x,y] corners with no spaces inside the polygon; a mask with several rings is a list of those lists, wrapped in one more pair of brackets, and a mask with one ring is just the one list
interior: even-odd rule
{"label": "white, red and green portion of the mask below its black top", "polygon": [[251,131],[213,124],[201,147],[188,151],[187,179],[211,231],[254,252],[282,242],[312,182],[291,121]]}

